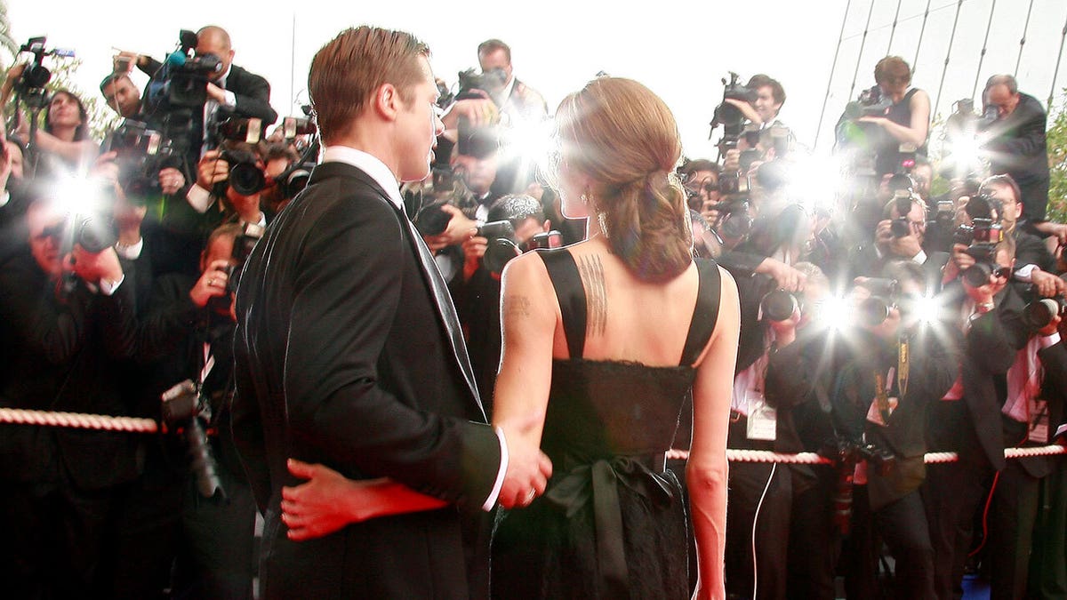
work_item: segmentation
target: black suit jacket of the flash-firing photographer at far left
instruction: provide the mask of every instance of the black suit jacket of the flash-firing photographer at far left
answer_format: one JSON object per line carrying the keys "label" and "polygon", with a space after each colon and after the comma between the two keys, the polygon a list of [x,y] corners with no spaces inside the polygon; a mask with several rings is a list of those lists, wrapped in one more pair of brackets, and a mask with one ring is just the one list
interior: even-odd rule
{"label": "black suit jacket of the flash-firing photographer at far left", "polygon": [[[129,358],[133,286],[113,296],[79,285],[58,300],[54,283],[26,248],[0,268],[2,343],[11,349],[0,377],[0,406],[128,415],[121,360]],[[43,487],[94,490],[137,476],[138,436],[5,425],[0,478]]]}

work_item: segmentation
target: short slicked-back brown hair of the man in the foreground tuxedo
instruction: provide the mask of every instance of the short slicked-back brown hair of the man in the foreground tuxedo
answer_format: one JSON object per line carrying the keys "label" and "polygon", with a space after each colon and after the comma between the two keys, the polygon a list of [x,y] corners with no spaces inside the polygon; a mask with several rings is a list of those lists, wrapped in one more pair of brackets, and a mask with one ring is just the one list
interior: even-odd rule
{"label": "short slicked-back brown hair of the man in the foreground tuxedo", "polygon": [[410,102],[424,78],[418,58],[429,56],[426,44],[403,31],[361,26],[338,33],[316,52],[307,75],[322,140],[344,135],[385,83]]}

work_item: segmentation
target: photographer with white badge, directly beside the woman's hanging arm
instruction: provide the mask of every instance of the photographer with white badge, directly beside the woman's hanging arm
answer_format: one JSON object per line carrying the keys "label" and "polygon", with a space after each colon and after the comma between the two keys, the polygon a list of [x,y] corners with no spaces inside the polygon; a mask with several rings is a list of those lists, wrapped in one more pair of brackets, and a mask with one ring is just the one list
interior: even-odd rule
{"label": "photographer with white badge, directly beside the woman's hanging arm", "polygon": [[[806,335],[826,279],[810,264],[811,296],[794,296],[766,277],[738,280],[740,348],[731,400],[731,448],[801,452],[793,409],[810,399],[821,340]],[[769,287],[769,290],[768,290]],[[817,291],[816,291],[817,290]],[[803,299],[801,307],[800,299]],[[809,330],[808,328],[811,327]],[[785,598],[794,494],[810,488],[807,465],[735,462],[729,474],[727,589],[737,598]]]}

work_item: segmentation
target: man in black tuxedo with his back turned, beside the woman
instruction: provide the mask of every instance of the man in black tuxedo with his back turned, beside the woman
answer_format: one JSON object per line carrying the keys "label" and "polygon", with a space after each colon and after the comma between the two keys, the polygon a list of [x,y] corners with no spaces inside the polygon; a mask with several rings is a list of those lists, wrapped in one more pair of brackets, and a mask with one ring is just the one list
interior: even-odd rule
{"label": "man in black tuxedo with his back turned, beside the woman", "polygon": [[[264,598],[485,597],[484,511],[532,501],[551,474],[539,449],[485,424],[455,307],[402,209],[399,183],[426,177],[443,130],[427,57],[369,27],[319,50],[323,162],[241,278],[233,427],[266,514]],[[293,541],[290,457],[389,477],[443,508]]]}

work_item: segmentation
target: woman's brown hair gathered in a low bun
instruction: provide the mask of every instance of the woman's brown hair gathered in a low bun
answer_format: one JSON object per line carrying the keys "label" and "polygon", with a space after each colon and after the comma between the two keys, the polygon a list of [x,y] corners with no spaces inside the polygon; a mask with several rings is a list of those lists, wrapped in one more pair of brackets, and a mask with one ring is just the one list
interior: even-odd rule
{"label": "woman's brown hair gathered in a low bun", "polygon": [[682,142],[667,105],[631,79],[595,79],[560,104],[556,132],[562,162],[593,180],[583,192],[603,214],[612,254],[643,281],[682,273],[692,234],[685,193],[669,176]]}

